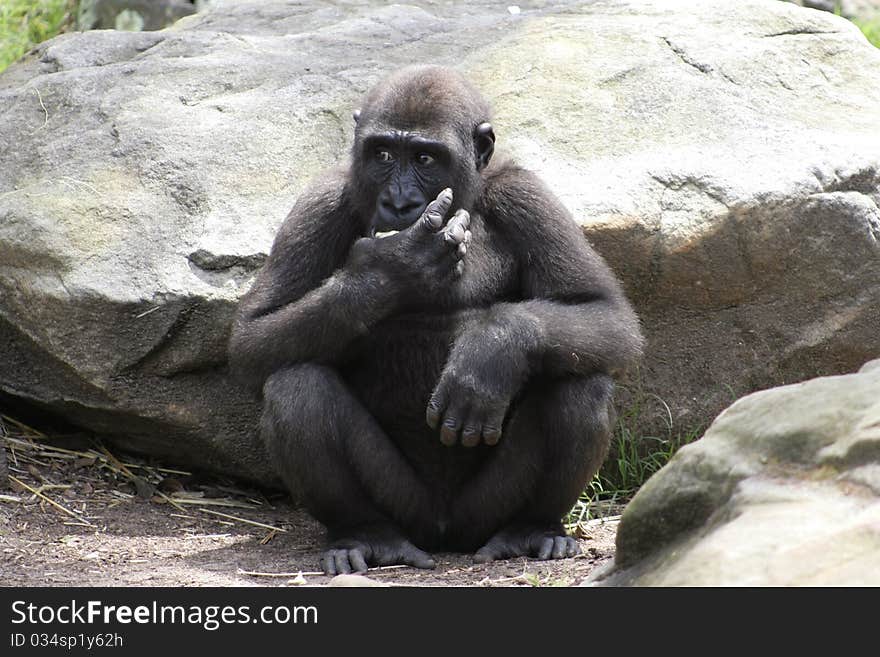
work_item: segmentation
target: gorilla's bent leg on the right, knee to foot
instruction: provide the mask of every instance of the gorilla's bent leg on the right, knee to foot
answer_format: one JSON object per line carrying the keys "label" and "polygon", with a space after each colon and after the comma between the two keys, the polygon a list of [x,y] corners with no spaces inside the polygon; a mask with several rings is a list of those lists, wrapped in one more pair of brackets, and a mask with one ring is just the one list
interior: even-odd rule
{"label": "gorilla's bent leg on the right, knee to foot", "polygon": [[[462,489],[453,536],[477,561],[574,556],[560,519],[602,464],[611,438],[610,377],[537,380],[513,410],[501,441]],[[488,542],[486,542],[488,538]]]}

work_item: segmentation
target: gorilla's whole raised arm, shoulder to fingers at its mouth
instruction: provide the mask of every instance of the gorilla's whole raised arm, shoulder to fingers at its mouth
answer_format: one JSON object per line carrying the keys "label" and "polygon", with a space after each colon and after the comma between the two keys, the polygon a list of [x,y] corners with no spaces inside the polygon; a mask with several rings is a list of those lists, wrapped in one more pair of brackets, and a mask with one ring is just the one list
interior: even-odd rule
{"label": "gorilla's whole raised arm, shoulder to fingers at its mouth", "polygon": [[342,174],[304,193],[240,303],[233,372],[256,388],[285,365],[338,362],[355,338],[424,294],[424,280],[455,276],[467,213],[441,230],[451,203],[441,194],[407,230],[371,239],[360,238]]}

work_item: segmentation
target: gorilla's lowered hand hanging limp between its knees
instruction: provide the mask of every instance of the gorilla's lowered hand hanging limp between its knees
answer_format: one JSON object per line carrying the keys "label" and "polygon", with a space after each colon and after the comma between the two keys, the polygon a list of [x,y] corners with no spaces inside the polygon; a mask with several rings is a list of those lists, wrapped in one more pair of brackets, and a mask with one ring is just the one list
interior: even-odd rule
{"label": "gorilla's lowered hand hanging limp between its knees", "polygon": [[525,353],[505,339],[503,328],[463,335],[428,402],[428,426],[440,427],[444,445],[459,439],[465,447],[497,444],[504,416],[527,372]]}

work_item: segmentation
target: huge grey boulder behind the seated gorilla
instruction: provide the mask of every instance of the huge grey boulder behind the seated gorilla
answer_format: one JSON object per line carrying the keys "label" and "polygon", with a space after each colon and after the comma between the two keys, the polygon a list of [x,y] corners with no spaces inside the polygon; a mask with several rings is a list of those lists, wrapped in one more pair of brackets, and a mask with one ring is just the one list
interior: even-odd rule
{"label": "huge grey boulder behind the seated gorilla", "polygon": [[8,69],[0,391],[268,476],[234,304],[360,96],[413,62],[484,89],[499,147],[625,279],[647,428],[880,351],[880,51],[855,27],[771,0],[508,4],[221,1]]}

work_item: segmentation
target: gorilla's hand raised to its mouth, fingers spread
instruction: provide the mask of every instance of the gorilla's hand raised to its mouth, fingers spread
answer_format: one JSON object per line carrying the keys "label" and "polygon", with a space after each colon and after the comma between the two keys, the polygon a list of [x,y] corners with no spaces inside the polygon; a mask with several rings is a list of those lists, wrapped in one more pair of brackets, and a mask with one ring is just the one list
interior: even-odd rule
{"label": "gorilla's hand raised to its mouth, fingers spread", "polygon": [[456,211],[443,225],[451,207],[452,190],[444,189],[409,228],[357,240],[346,267],[384,273],[407,296],[424,299],[431,290],[446,289],[444,283],[464,271],[471,239],[467,210]]}

